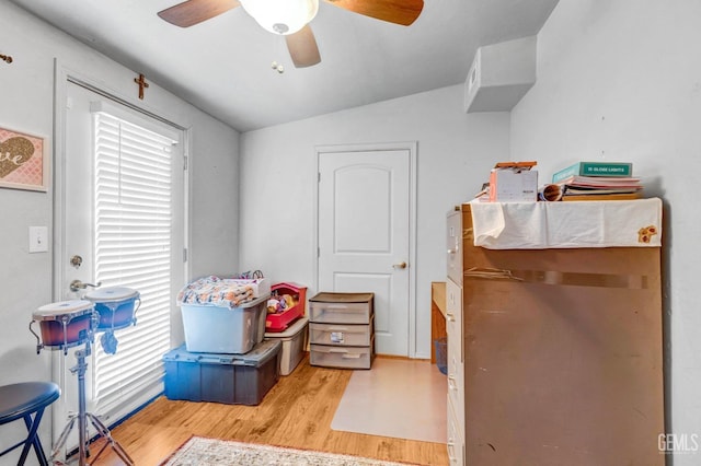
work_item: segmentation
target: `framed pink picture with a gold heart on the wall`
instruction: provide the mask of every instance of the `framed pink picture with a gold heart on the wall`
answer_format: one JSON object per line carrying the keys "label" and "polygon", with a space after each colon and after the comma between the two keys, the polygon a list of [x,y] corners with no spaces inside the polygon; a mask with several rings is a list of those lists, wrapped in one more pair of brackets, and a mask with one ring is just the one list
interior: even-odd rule
{"label": "framed pink picture with a gold heart on the wall", "polygon": [[48,171],[45,138],[0,127],[0,188],[46,191]]}

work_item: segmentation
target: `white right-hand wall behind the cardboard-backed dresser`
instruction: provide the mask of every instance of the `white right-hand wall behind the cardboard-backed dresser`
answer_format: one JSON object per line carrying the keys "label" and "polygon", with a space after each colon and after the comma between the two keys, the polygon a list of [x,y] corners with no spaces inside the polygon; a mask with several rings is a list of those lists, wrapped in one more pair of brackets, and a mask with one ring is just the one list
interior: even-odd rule
{"label": "white right-hand wall behind the cardboard-backed dresser", "polygon": [[688,440],[701,435],[700,44],[699,1],[561,0],[538,36],[538,81],[512,113],[512,159],[548,173],[631,161],[664,199],[667,417]]}

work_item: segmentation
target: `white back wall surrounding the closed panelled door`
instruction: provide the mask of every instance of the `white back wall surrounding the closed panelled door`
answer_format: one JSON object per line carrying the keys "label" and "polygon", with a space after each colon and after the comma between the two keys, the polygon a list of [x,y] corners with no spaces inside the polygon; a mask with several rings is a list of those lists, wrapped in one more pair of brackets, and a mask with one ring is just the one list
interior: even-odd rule
{"label": "white back wall surrounding the closed panelled door", "polygon": [[508,114],[467,115],[462,85],[241,136],[241,266],[313,295],[317,145],[417,141],[416,357],[430,354],[430,282],[446,280],[446,213],[508,158]]}

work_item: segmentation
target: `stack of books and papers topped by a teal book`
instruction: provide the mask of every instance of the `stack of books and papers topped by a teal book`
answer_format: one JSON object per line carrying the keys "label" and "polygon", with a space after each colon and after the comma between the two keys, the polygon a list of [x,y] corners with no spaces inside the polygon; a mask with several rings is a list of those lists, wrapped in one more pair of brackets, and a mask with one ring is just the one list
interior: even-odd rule
{"label": "stack of books and papers topped by a teal book", "polygon": [[643,185],[625,162],[578,162],[552,175],[562,200],[627,200],[642,197]]}

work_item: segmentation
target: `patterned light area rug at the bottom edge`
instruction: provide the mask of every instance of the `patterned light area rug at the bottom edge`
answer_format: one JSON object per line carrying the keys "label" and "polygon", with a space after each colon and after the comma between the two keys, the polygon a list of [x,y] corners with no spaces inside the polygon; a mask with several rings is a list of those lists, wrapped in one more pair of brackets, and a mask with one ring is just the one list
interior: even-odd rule
{"label": "patterned light area rug at the bottom edge", "polygon": [[359,456],[192,436],[161,466],[406,466]]}

